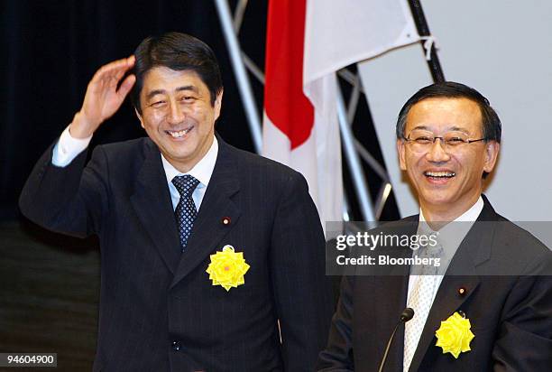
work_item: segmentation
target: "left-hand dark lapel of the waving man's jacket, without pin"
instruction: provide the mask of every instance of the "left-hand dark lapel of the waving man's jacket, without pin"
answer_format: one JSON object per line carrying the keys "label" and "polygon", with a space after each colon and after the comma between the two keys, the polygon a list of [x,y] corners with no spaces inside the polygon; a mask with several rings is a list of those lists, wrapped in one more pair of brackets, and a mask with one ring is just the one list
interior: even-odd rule
{"label": "left-hand dark lapel of the waving man's jacket, without pin", "polygon": [[138,173],[131,203],[165,265],[174,273],[180,256],[179,235],[161,154],[150,140],[145,144],[145,160]]}

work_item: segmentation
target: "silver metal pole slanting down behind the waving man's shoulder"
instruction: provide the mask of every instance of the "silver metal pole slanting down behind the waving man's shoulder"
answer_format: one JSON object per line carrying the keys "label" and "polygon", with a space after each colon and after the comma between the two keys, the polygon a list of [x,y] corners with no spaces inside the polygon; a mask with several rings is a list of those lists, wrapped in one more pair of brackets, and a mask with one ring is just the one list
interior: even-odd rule
{"label": "silver metal pole slanting down behind the waving man's shoulder", "polygon": [[242,58],[242,51],[240,50],[239,42],[235,34],[235,28],[232,24],[232,15],[230,13],[230,7],[226,0],[216,0],[216,10],[220,23],[222,25],[223,33],[225,34],[225,42],[230,52],[230,60],[232,61],[232,67],[235,73],[235,79],[237,80],[237,86],[240,91],[242,102],[244,103],[245,116],[247,116],[247,123],[249,124],[249,130],[253,137],[253,144],[257,153],[262,152],[262,134],[261,134],[261,116],[257,112],[255,106],[255,99],[253,96],[253,89],[245,70],[244,60]]}

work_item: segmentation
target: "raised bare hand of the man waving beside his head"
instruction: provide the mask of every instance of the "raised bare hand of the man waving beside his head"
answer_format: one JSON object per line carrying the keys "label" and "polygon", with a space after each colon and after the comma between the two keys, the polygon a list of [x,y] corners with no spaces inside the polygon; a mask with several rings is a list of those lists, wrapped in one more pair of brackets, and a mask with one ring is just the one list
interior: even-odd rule
{"label": "raised bare hand of the man waving beside his head", "polygon": [[[126,71],[134,66],[134,56],[114,60],[97,70],[87,87],[87,94],[80,111],[75,115],[70,134],[76,138],[86,138],[123,104],[124,98],[133,88],[136,77],[129,75],[119,86]],[[119,88],[117,89],[117,86]]]}

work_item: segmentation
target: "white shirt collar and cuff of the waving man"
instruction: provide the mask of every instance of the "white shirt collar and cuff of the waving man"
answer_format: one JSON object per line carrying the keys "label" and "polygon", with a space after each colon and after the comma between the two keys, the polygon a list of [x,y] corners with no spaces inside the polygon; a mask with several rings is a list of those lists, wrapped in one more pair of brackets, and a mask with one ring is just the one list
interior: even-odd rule
{"label": "white shirt collar and cuff of the waving man", "polygon": [[[82,153],[87,149],[88,144],[92,140],[92,135],[87,138],[79,139],[70,135],[69,126],[65,128],[63,133],[60,135],[60,141],[54,146],[51,163],[58,167],[65,167],[69,165],[79,153]],[[187,173],[179,172],[174,166],[165,157],[161,154],[161,163],[163,164],[163,170],[167,176],[167,184],[170,191],[170,200],[172,201],[172,209],[176,209],[176,206],[179,204],[180,194],[176,187],[172,184],[172,179],[176,176],[181,176],[184,174],[189,174],[195,177],[198,181],[198,187],[192,193],[192,199],[194,204],[196,204],[196,209],[199,210],[205,192],[207,191],[207,186],[213,175],[213,170],[215,169],[216,156],[218,155],[218,142],[216,137],[213,139],[213,144],[201,160],[194,165],[192,169]]]}

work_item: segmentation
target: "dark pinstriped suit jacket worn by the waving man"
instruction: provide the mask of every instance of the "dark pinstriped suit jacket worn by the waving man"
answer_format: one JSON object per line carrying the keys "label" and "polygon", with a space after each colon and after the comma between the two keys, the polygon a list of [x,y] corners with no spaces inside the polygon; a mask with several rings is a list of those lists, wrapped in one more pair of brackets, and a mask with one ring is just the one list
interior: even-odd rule
{"label": "dark pinstriped suit jacket worn by the waving man", "polygon": [[[161,155],[149,138],[97,146],[86,167],[86,152],[65,168],[53,166],[50,148],[32,171],[23,214],[100,240],[95,370],[313,369],[333,309],[307,182],[280,163],[218,143],[184,253]],[[225,245],[251,265],[245,284],[229,292],[206,273],[209,256]]]}

